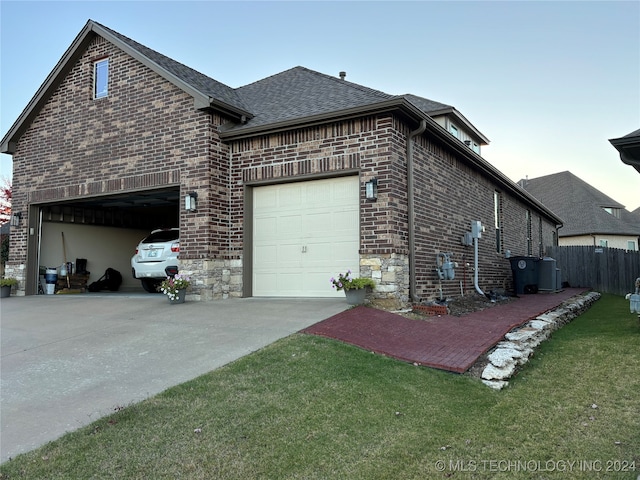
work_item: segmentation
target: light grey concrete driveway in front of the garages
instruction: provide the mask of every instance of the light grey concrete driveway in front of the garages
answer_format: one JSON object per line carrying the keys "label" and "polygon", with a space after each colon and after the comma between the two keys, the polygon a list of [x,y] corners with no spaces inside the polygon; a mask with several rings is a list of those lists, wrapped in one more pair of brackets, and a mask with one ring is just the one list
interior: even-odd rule
{"label": "light grey concrete driveway in front of the garages", "polygon": [[0,462],[347,307],[278,298],[169,305],[137,293],[5,298]]}

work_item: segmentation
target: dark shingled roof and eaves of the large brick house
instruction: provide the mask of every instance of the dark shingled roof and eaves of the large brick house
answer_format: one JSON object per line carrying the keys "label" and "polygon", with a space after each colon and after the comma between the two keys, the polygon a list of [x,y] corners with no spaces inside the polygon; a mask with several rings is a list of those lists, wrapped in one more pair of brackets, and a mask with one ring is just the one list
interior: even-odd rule
{"label": "dark shingled roof and eaves of the large brick house", "polygon": [[93,20],[87,22],[4,136],[0,142],[2,153],[15,152],[20,136],[96,36],[105,38],[191,95],[195,108],[220,111],[231,117],[235,123],[229,122],[220,127],[223,139],[266,134],[379,112],[400,111],[412,120],[410,124],[417,126],[424,123],[433,137],[466,158],[473,168],[493,178],[506,191],[534,206],[555,223],[561,223],[560,218],[552,211],[433,119],[435,116],[453,116],[477,135],[481,142],[488,143],[488,139],[450,105],[411,94],[390,95],[304,67],[295,67],[234,89]]}

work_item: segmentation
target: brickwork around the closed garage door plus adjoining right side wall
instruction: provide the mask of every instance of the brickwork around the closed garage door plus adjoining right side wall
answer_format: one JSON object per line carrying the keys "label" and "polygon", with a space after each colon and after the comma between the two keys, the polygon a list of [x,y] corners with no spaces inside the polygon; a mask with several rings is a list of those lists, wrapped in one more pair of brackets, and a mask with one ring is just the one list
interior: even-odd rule
{"label": "brickwork around the closed garage door plus adjoining right side wall", "polygon": [[[234,142],[231,147],[234,180],[232,211],[242,211],[245,185],[291,181],[310,175],[339,175],[357,171],[361,177],[360,273],[380,288],[374,295],[408,300],[408,219],[406,136],[408,127],[392,115],[370,116]],[[426,133],[417,139],[416,262],[417,292],[425,299],[474,292],[473,247],[461,237],[472,220],[486,227],[479,241],[479,286],[486,291],[511,286],[510,262],[526,255],[527,207],[501,192],[497,185]],[[364,182],[378,179],[378,200],[364,198]],[[501,249],[496,251],[494,192],[500,191]],[[534,236],[539,216],[532,213]],[[243,217],[234,215],[230,242],[242,248]],[[543,222],[543,241],[552,242],[554,226]],[[534,238],[534,254],[537,252]],[[453,281],[438,280],[436,255],[451,252],[458,262]]]}

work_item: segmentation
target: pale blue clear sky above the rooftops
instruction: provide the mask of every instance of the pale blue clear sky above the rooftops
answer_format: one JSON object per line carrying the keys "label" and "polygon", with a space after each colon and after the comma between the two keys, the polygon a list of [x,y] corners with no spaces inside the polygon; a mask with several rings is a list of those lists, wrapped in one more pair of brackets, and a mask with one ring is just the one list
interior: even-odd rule
{"label": "pale blue clear sky above the rooftops", "polygon": [[608,142],[640,128],[640,2],[0,0],[2,136],[88,19],[231,87],[301,65],[453,105],[512,180],[569,170],[640,207]]}

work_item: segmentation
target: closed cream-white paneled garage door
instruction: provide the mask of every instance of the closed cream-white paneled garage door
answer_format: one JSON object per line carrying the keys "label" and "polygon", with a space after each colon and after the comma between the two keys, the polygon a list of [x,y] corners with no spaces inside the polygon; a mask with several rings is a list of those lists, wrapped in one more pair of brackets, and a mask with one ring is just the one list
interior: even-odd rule
{"label": "closed cream-white paneled garage door", "polygon": [[359,269],[358,177],[258,187],[253,295],[332,297],[329,280]]}

